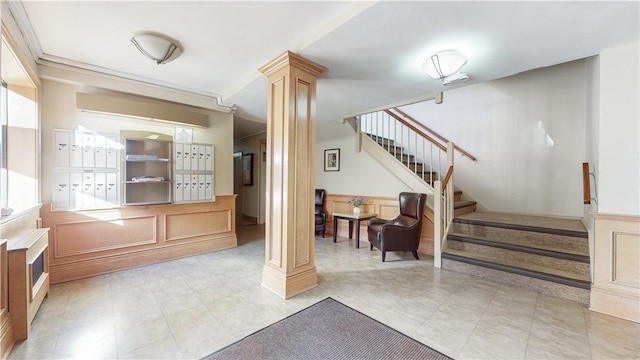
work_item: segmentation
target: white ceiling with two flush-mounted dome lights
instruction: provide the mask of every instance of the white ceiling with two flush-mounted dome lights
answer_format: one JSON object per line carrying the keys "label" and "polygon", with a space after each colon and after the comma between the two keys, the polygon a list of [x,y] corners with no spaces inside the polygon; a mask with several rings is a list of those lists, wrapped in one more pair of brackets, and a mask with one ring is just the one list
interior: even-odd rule
{"label": "white ceiling with two flush-mounted dome lights", "polygon": [[[323,122],[640,39],[638,1],[23,1],[11,8],[22,12],[18,22],[39,61],[216,97],[237,108],[236,138],[264,127],[252,123],[265,123],[267,113],[266,78],[257,69],[285,50],[327,67],[317,89]],[[182,56],[155,65],[129,42],[143,31],[177,39]],[[420,65],[450,48],[468,56],[470,79],[443,86]],[[240,131],[244,120],[251,122]]]}

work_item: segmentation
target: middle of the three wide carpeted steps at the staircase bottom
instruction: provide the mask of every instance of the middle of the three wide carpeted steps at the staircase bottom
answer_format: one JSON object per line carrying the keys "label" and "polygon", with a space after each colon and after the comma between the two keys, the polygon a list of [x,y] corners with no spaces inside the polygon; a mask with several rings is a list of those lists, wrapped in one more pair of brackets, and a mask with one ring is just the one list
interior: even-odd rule
{"label": "middle of the three wide carpeted steps at the staircase bottom", "polygon": [[444,252],[451,253],[453,251],[471,258],[482,257],[487,261],[507,262],[516,267],[531,266],[545,273],[561,271],[564,276],[589,281],[589,257],[563,255],[559,252],[511,244],[449,236]]}

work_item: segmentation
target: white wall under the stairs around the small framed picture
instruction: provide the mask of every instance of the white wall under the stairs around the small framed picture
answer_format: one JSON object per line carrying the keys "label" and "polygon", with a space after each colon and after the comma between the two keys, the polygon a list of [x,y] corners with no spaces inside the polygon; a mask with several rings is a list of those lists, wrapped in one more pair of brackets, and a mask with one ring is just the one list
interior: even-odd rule
{"label": "white wall under the stairs around the small framed picture", "polygon": [[[340,149],[340,171],[324,171],[327,149]],[[397,197],[402,191],[410,191],[367,152],[356,152],[355,132],[339,120],[316,124],[316,188],[328,194],[364,197]]]}

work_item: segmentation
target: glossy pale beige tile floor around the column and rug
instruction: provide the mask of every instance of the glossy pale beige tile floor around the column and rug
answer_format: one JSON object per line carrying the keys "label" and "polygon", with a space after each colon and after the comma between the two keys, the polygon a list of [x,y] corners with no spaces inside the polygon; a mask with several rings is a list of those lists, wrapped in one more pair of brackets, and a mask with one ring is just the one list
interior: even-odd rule
{"label": "glossy pale beige tile floor around the column and rug", "polygon": [[240,246],[54,285],[10,359],[195,359],[327,296],[453,358],[640,358],[640,325],[541,293],[435,269],[423,256],[316,238],[319,286],[260,286],[264,228]]}

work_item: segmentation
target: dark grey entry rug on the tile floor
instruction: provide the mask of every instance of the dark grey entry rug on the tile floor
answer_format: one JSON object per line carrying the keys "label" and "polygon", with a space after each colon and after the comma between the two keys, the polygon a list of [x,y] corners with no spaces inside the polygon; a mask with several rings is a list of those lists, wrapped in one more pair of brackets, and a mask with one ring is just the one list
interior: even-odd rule
{"label": "dark grey entry rug on the tile floor", "polygon": [[214,359],[451,358],[328,297],[203,358]]}

